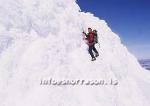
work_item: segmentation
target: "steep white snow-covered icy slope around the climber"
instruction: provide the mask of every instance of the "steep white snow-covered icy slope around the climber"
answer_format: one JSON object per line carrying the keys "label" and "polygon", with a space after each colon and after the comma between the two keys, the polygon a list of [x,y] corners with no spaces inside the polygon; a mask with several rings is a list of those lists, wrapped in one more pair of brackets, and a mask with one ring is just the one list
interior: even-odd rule
{"label": "steep white snow-covered icy slope around the climber", "polygon": [[[149,106],[150,74],[104,20],[75,0],[1,0],[0,106]],[[90,61],[82,29],[99,31]],[[41,80],[105,80],[118,85],[52,86]]]}

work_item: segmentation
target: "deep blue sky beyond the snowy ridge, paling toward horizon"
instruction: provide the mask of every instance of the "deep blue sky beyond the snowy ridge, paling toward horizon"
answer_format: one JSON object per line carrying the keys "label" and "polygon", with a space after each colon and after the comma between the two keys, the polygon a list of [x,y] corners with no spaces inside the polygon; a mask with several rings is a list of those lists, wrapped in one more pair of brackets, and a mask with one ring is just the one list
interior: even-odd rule
{"label": "deep blue sky beyond the snowy ridge, paling toward horizon", "polygon": [[150,58],[150,0],[78,0],[82,11],[104,19],[138,59]]}

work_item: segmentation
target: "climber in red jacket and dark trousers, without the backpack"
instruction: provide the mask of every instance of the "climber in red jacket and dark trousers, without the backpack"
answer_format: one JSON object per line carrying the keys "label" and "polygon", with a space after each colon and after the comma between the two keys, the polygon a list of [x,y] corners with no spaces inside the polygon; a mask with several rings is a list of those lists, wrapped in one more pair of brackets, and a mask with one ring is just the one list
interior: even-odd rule
{"label": "climber in red jacket and dark trousers, without the backpack", "polygon": [[[88,28],[88,34],[86,34],[84,31],[83,31],[83,34],[86,36],[85,39],[87,40],[87,44],[89,46],[89,50],[88,51],[89,51],[89,54],[92,57],[91,61],[95,61],[96,57],[99,56],[99,53],[98,53],[98,51],[95,48],[94,33],[92,31],[92,28]],[[95,56],[94,56],[92,50],[95,52]]]}

